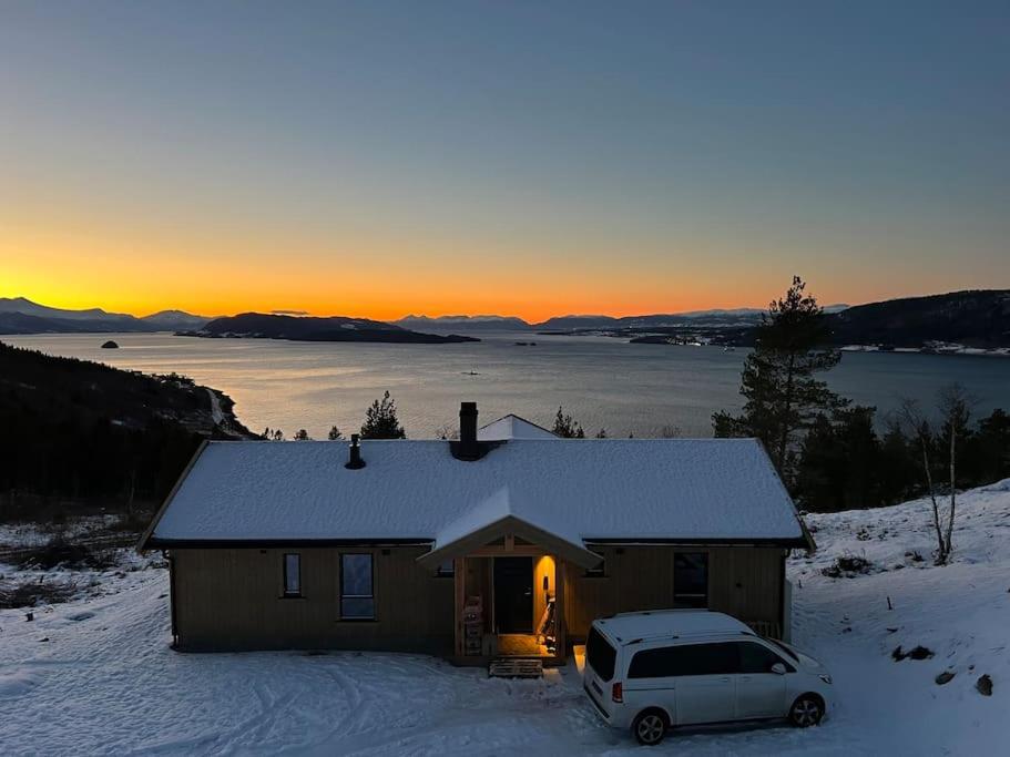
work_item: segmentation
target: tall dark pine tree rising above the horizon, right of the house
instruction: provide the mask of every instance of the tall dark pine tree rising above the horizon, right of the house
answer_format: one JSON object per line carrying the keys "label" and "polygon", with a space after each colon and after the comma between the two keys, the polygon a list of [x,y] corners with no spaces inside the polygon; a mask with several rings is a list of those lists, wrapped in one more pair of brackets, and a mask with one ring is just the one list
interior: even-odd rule
{"label": "tall dark pine tree rising above the horizon, right of the house", "polygon": [[815,374],[838,365],[841,354],[826,347],[829,333],[824,310],[804,293],[798,276],[784,299],[773,301],[755,333],[754,350],[747,356],[739,392],[746,398],[738,416],[716,412],[716,437],[756,437],[786,481],[793,478],[797,437],[819,412],[844,408],[845,400]]}

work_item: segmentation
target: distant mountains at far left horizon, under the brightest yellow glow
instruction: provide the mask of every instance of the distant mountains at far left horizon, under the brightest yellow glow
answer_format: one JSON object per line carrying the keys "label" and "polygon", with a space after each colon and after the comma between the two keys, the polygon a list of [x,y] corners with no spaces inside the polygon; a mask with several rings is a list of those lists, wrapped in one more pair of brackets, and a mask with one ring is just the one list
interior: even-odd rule
{"label": "distant mountains at far left horizon, under the brightest yellow glow", "polygon": [[201,328],[212,320],[182,310],[162,310],[137,318],[101,308],[67,310],[24,297],[0,297],[0,334],[83,334],[112,331],[176,331]]}

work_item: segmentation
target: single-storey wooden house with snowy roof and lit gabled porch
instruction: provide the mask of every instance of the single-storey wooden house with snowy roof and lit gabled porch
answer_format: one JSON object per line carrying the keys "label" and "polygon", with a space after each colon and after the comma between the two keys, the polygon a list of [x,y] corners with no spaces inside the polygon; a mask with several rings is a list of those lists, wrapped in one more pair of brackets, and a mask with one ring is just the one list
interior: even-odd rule
{"label": "single-storey wooden house with snowy roof and lit gabled porch", "polygon": [[519,421],[478,432],[463,402],[458,441],[204,443],[139,543],[167,555],[175,646],[550,659],[662,607],[788,636],[813,542],[757,441]]}

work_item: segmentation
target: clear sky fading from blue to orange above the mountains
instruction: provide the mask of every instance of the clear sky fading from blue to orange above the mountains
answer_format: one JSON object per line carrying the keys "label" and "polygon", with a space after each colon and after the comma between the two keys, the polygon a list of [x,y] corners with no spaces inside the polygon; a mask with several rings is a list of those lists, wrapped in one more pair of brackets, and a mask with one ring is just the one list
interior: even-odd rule
{"label": "clear sky fading from blue to orange above the mountains", "polygon": [[1010,286],[1010,7],[0,4],[0,296],[629,315]]}

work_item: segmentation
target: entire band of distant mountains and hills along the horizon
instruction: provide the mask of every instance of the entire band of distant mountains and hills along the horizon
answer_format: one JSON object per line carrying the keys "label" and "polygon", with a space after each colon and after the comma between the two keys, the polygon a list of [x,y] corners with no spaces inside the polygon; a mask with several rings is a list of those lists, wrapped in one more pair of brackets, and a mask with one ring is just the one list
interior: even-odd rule
{"label": "entire band of distant mountains and hills along the horizon", "polygon": [[[832,305],[833,340],[838,345],[922,348],[928,342],[969,347],[1010,347],[1010,290],[983,289],[907,297],[868,305]],[[460,336],[490,331],[608,334],[636,341],[679,341],[704,337],[725,345],[748,345],[764,310],[756,308],[692,310],[625,316],[570,315],[528,323],[514,316],[410,315],[394,323],[298,311],[245,313],[223,318],[162,310],[143,318],[100,308],[67,310],[23,297],[0,298],[0,334],[174,331],[194,336],[244,336],[310,341],[466,341]]]}

